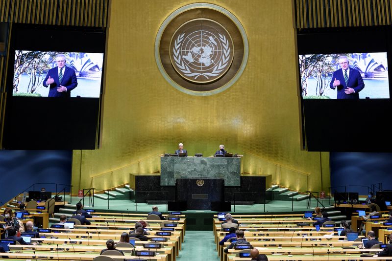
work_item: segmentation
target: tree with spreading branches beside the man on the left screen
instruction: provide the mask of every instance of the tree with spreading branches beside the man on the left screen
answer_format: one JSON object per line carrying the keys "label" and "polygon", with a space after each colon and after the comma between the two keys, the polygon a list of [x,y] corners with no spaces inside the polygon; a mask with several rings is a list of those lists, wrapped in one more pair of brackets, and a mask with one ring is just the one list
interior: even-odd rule
{"label": "tree with spreading branches beside the man on the left screen", "polygon": [[56,56],[56,52],[41,52],[41,51],[16,51],[14,64],[14,83],[13,90],[15,93],[19,91],[19,85],[22,75],[29,77],[27,84],[27,93],[35,93],[35,91],[42,87],[44,80],[44,71],[50,69],[50,62]]}

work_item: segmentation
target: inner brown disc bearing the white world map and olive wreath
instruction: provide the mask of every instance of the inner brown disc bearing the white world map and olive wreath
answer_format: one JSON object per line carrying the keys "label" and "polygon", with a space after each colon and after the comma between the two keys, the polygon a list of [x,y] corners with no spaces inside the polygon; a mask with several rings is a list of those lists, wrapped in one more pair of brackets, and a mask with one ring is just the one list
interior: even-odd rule
{"label": "inner brown disc bearing the white world map and olive wreath", "polygon": [[233,41],[218,22],[196,19],[181,25],[170,43],[170,59],[188,81],[209,83],[221,78],[234,57]]}

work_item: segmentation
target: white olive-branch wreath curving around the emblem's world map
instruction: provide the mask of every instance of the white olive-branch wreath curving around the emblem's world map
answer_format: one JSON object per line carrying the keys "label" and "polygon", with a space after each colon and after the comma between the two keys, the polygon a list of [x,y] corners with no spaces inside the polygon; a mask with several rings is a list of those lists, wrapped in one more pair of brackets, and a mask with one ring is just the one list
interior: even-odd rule
{"label": "white olive-branch wreath curving around the emblem's world map", "polygon": [[218,76],[228,65],[230,60],[230,47],[229,47],[229,41],[227,40],[226,36],[219,34],[219,40],[223,45],[223,52],[222,52],[221,61],[218,63],[218,65],[216,65],[213,68],[212,72],[198,73],[198,72],[192,72],[189,66],[186,63],[184,63],[184,61],[181,58],[180,47],[182,41],[184,40],[184,35],[185,33],[178,35],[177,39],[174,41],[174,47],[173,47],[173,59],[175,61],[175,65],[177,65],[179,70],[182,73],[184,73],[185,76],[188,77],[195,76],[194,77],[195,79],[199,76],[204,76],[207,79],[209,79],[208,76],[210,77]]}

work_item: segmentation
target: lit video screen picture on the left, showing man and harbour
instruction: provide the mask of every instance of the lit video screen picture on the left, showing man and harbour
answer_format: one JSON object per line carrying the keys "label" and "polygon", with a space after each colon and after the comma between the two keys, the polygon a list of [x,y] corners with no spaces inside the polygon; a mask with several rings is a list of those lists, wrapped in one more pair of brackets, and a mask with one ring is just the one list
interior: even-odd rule
{"label": "lit video screen picture on the left, showing man and harbour", "polygon": [[98,98],[103,53],[16,50],[13,96]]}

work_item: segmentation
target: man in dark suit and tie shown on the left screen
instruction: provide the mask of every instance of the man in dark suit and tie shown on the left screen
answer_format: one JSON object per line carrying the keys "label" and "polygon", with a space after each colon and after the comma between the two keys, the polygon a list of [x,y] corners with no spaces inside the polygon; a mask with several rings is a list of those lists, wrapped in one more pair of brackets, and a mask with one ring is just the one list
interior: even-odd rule
{"label": "man in dark suit and tie shown on the left screen", "polygon": [[45,87],[49,87],[48,97],[71,97],[71,91],[77,86],[75,70],[65,66],[64,54],[58,54],[56,58],[57,66],[48,71],[43,82]]}

